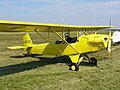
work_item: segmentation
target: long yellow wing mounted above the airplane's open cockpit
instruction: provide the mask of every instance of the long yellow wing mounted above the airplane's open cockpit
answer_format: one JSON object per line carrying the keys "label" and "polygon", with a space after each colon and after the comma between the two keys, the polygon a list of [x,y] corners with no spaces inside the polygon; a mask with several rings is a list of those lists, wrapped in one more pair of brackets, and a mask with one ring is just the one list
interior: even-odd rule
{"label": "long yellow wing mounted above the airplane's open cockpit", "polygon": [[79,26],[0,20],[0,32],[32,32],[35,29],[41,32],[48,32],[51,31],[51,29],[55,30],[56,32],[62,32],[63,30],[99,30],[106,28],[114,28],[114,26]]}

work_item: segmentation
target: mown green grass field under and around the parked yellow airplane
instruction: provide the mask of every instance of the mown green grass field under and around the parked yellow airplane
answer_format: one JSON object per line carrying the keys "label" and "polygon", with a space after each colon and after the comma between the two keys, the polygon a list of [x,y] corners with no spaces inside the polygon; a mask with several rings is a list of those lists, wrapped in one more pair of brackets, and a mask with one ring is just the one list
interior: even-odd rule
{"label": "mown green grass field under and around the parked yellow airplane", "polygon": [[[22,45],[25,33],[0,33],[0,90],[120,90],[120,45],[112,47],[112,59],[102,50],[96,56],[98,66],[87,62],[79,71],[69,71],[67,57],[24,57],[22,50],[8,46]],[[30,33],[34,43],[44,42]]]}

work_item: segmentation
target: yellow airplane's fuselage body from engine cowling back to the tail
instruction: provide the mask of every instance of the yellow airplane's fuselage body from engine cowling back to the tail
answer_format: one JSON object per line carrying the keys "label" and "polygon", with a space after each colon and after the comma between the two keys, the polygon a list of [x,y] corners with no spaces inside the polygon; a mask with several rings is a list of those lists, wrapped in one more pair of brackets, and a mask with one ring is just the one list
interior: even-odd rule
{"label": "yellow airplane's fuselage body from engine cowling back to the tail", "polygon": [[108,35],[103,34],[90,34],[82,35],[78,38],[76,43],[55,44],[55,43],[43,43],[33,44],[30,53],[31,54],[43,54],[43,55],[74,55],[87,52],[99,51],[106,49],[108,45]]}

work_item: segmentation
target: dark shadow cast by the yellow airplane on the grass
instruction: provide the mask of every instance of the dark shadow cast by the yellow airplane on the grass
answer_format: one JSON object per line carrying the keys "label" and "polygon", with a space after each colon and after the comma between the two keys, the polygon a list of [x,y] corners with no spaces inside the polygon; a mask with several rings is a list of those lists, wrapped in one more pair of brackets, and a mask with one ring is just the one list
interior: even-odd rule
{"label": "dark shadow cast by the yellow airplane on the grass", "polygon": [[[11,57],[12,58],[24,58],[24,56],[11,56]],[[10,74],[14,74],[14,73],[23,72],[23,71],[26,71],[26,70],[35,69],[35,68],[42,67],[42,66],[45,66],[45,65],[50,65],[50,64],[57,64],[57,63],[68,64],[68,63],[71,63],[70,59],[67,56],[46,58],[46,57],[40,57],[40,56],[35,55],[35,56],[32,56],[32,57],[40,59],[40,60],[0,67],[0,77],[10,75]],[[89,64],[88,62],[81,62],[80,65],[91,66],[91,67],[94,66],[94,65]]]}

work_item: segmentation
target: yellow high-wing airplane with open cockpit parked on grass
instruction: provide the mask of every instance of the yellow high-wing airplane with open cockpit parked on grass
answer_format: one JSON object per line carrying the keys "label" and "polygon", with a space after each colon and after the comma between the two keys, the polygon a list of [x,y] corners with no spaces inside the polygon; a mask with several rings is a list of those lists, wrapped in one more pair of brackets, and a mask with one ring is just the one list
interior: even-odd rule
{"label": "yellow high-wing airplane with open cockpit parked on grass", "polygon": [[[77,26],[77,25],[62,25],[62,24],[45,24],[32,22],[18,22],[0,20],[1,32],[36,32],[47,43],[33,44],[27,33],[23,36],[24,46],[12,46],[9,49],[24,49],[28,56],[29,54],[42,55],[57,55],[69,56],[71,64],[70,70],[78,71],[79,64],[83,59],[89,60],[89,63],[97,65],[97,60],[94,57],[89,57],[87,53],[108,49],[109,56],[111,53],[111,33],[105,34],[84,34],[79,36],[79,31],[101,30],[113,28],[114,26]],[[68,31],[65,35],[64,32]],[[70,37],[70,31],[76,32],[76,37]],[[43,36],[40,32],[48,32],[48,36]],[[55,33],[61,40],[56,42],[50,41],[49,33]],[[60,35],[58,32],[61,32]]]}

